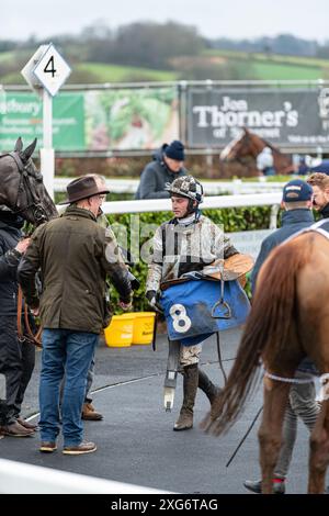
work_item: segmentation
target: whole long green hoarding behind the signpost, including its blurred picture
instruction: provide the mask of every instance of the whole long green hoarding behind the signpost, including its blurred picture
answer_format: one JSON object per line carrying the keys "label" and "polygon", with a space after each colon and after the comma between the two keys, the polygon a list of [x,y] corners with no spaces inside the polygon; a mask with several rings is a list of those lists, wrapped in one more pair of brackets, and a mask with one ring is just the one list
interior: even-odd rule
{"label": "whole long green hoarding behind the signpost, including its blurred picture", "polygon": [[[43,146],[42,100],[7,92],[0,99],[0,153],[19,136]],[[60,92],[54,98],[53,141],[58,152],[152,149],[179,137],[175,87]]]}

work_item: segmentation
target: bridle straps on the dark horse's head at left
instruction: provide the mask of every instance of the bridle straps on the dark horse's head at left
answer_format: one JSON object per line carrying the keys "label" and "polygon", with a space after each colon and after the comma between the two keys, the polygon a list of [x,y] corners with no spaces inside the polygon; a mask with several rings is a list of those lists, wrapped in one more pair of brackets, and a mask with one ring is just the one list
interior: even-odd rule
{"label": "bridle straps on the dark horse's head at left", "polygon": [[21,159],[20,155],[15,152],[1,155],[1,157],[4,157],[4,156],[11,156],[12,157],[12,159],[15,161],[15,164],[18,166],[18,169],[19,169],[19,172],[20,172],[20,183],[19,183],[19,188],[18,188],[18,197],[16,197],[16,201],[15,201],[15,206],[18,206],[20,194],[23,191],[25,191],[26,199],[27,199],[27,204],[25,206],[21,207],[20,210],[11,209],[12,212],[15,215],[20,215],[21,213],[32,209],[35,224],[39,225],[42,222],[47,220],[47,214],[45,212],[45,209],[43,207],[43,205],[39,202],[39,198],[35,194],[35,189],[34,189],[34,186],[31,181],[31,177],[34,177],[34,179],[36,181],[42,182],[42,180],[43,180],[42,173],[38,172],[37,170],[35,170],[35,171],[33,170],[33,172],[35,172],[35,173],[32,175],[31,165],[33,165],[33,161],[32,161],[31,158],[27,159],[27,161],[24,164],[23,160]]}

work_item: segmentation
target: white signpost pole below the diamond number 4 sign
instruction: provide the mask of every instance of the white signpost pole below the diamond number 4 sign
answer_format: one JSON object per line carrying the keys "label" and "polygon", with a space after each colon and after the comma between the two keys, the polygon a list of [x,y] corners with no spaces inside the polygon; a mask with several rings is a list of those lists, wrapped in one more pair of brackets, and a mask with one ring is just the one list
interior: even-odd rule
{"label": "white signpost pole below the diamond number 4 sign", "polygon": [[54,200],[55,152],[53,148],[53,97],[46,88],[43,89],[43,137],[41,149],[41,171],[45,187]]}

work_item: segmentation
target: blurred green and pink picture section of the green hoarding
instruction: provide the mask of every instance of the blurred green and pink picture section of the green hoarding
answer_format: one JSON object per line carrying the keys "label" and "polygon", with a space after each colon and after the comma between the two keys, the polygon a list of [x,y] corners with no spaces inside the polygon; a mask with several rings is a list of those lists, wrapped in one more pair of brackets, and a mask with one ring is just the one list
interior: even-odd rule
{"label": "blurred green and pink picture section of the green hoarding", "polygon": [[89,91],[87,148],[152,149],[179,136],[175,87]]}

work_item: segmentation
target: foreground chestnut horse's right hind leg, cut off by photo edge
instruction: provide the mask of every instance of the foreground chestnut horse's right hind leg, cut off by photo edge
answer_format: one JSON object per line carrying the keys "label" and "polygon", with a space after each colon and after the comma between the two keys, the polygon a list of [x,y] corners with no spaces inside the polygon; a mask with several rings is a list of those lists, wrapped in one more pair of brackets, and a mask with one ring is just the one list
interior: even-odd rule
{"label": "foreground chestnut horse's right hind leg, cut off by photo edge", "polygon": [[321,412],[310,435],[308,493],[324,493],[328,462],[329,400],[322,402]]}

